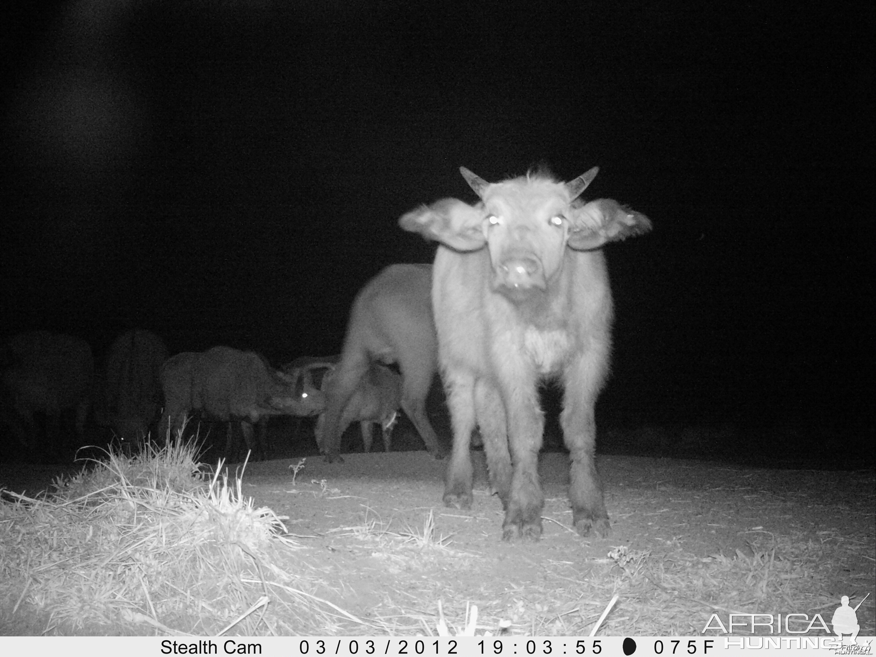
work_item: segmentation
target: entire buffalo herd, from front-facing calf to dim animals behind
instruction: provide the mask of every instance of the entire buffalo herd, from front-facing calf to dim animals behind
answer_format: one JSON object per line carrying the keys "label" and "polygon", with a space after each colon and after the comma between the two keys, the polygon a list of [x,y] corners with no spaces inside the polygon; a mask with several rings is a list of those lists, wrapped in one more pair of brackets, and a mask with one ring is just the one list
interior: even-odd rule
{"label": "entire buffalo herd, from front-facing calf to dim animals behind", "polygon": [[596,168],[569,182],[534,171],[489,183],[461,172],[477,202],[442,199],[401,217],[402,229],[439,243],[434,264],[390,265],[371,279],[353,303],[339,357],[302,357],[279,368],[223,346],[169,357],[159,336],[137,329],[118,336],[95,368],[77,338],[21,334],[2,363],[6,442],[30,452],[63,450],[88,417],[126,440],[163,436],[194,413],[228,422],[230,458],[244,445],[258,456],[265,420],[317,416],[321,453],[340,461],[341,436],[353,422],[366,451],[373,424],[388,450],[401,409],[441,458],[444,442],[426,413],[440,372],[453,433],[444,503],[471,505],[477,428],[491,490],[505,510],[503,537],[537,539],[545,425],[538,389],[550,379],[564,390],[560,424],[576,531],[607,535],[594,463],[594,405],[611,352],[602,247],[651,224],[616,201],[580,199]]}

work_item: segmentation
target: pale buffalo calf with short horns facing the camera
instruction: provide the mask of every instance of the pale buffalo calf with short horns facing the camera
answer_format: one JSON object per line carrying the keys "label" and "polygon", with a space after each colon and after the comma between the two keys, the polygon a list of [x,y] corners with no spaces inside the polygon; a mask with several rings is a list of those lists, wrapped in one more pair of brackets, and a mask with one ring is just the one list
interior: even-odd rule
{"label": "pale buffalo calf with short horns facing the camera", "polygon": [[608,372],[612,307],[600,247],[646,232],[651,223],[616,201],[579,201],[596,168],[570,182],[530,173],[492,184],[460,170],[480,201],[444,199],[399,220],[441,243],[432,303],[453,421],[444,503],[471,505],[477,425],[491,488],[505,509],[503,538],[540,537],[538,386],[558,379],[576,531],[606,536],[593,409]]}

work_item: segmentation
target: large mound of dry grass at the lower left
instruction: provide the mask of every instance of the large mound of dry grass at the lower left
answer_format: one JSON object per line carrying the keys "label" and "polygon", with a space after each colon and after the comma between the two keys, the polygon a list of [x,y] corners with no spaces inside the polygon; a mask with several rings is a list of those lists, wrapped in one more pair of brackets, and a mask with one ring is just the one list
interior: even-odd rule
{"label": "large mound of dry grass at the lower left", "polygon": [[54,488],[0,500],[4,625],[35,611],[44,633],[369,632],[277,565],[297,548],[283,519],[193,443],[110,450]]}

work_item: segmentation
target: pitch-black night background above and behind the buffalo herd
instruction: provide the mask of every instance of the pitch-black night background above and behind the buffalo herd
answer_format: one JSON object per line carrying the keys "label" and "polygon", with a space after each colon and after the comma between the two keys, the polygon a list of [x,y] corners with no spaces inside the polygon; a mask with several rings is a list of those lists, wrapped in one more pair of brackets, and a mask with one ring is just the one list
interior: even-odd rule
{"label": "pitch-black night background above and behind the buffalo herd", "polygon": [[38,5],[0,17],[0,336],[337,353],[458,166],[599,166],[654,225],[607,247],[601,426],[872,440],[871,2]]}

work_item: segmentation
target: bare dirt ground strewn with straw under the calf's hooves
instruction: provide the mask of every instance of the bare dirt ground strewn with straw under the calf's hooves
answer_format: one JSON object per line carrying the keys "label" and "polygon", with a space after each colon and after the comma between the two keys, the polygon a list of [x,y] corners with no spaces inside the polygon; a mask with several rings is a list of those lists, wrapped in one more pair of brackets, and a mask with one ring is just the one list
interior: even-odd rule
{"label": "bare dirt ground strewn with straw under the calf's hooves", "polygon": [[[841,596],[854,606],[876,590],[872,470],[601,456],[612,533],[598,540],[569,529],[568,458],[546,453],[544,534],[504,543],[484,455],[473,456],[470,512],[442,506],[444,463],[420,451],[309,456],[294,479],[300,458],[250,463],[243,490],[288,517],[302,549],[284,568],[355,618],[350,635],[435,633],[439,601],[451,628],[474,604],[477,633],[582,635],[618,593],[600,634],[690,636],[731,612],[818,613],[830,624]],[[33,492],[51,471],[3,466],[0,486]],[[858,623],[862,636],[876,633],[872,595]]]}

